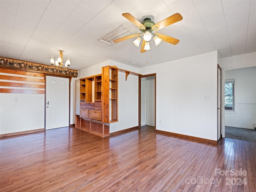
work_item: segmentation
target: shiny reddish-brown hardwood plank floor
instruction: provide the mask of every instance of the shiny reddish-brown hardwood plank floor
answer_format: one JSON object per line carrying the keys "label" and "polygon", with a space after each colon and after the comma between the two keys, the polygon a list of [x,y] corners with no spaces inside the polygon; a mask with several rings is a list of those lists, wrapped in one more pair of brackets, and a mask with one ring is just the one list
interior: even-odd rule
{"label": "shiny reddish-brown hardwood plank floor", "polygon": [[147,126],[110,138],[74,127],[0,139],[1,192],[255,192],[256,143]]}

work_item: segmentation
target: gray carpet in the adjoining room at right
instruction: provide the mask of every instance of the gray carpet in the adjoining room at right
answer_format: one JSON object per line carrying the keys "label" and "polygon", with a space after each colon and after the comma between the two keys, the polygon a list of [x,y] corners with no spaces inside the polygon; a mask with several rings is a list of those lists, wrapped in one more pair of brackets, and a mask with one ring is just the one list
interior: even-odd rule
{"label": "gray carpet in the adjoining room at right", "polygon": [[256,130],[225,126],[225,137],[256,142]]}

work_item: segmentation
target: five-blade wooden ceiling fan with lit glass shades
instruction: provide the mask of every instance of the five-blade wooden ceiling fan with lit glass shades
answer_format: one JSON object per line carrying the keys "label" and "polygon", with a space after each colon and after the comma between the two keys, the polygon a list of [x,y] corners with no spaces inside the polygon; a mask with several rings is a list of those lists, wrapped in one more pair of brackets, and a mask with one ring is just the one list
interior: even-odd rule
{"label": "five-blade wooden ceiling fan with lit glass shades", "polygon": [[160,34],[160,33],[152,33],[153,31],[160,30],[170,24],[176,23],[180,20],[182,20],[182,16],[179,13],[175,13],[172,16],[169,16],[168,18],[158,22],[155,24],[150,18],[145,18],[144,21],[141,23],[139,22],[134,16],[132,16],[130,13],[123,13],[122,16],[124,16],[126,19],[128,19],[130,22],[135,24],[141,31],[141,33],[136,33],[132,35],[128,35],[119,39],[114,40],[113,42],[117,43],[126,39],[130,39],[133,37],[137,37],[136,40],[133,41],[134,45],[139,47],[140,46],[140,41],[141,41],[141,36],[143,34],[143,40],[142,40],[142,46],[140,49],[141,53],[146,52],[147,50],[150,50],[150,45],[149,41],[151,40],[152,36],[154,36],[154,42],[156,46],[160,44],[162,40],[165,42],[171,43],[176,45],[180,40],[175,39],[173,37]]}

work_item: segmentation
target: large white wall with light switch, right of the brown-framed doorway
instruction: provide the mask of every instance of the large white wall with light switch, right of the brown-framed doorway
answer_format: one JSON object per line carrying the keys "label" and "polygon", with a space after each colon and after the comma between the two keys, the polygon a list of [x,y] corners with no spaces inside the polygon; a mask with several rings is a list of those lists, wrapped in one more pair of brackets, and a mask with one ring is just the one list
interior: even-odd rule
{"label": "large white wall with light switch, right of the brown-framed doorway", "polygon": [[139,73],[156,73],[157,130],[217,140],[217,51],[140,68]]}

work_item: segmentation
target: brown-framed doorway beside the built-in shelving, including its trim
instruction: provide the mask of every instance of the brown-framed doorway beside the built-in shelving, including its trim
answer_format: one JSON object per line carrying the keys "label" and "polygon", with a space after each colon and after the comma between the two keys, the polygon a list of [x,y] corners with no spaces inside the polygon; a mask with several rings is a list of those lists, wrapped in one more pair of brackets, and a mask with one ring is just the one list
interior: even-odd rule
{"label": "brown-framed doorway beside the built-in shelving, including its trim", "polygon": [[156,74],[139,76],[138,127],[153,126],[156,129]]}

